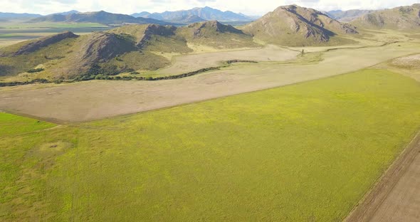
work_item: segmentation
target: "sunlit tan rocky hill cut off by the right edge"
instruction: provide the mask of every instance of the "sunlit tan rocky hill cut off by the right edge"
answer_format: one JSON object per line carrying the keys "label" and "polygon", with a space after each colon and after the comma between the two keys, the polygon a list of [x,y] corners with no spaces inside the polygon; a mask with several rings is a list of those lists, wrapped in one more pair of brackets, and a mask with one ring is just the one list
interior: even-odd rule
{"label": "sunlit tan rocky hill cut off by the right edge", "polygon": [[373,11],[352,21],[359,28],[420,30],[420,4]]}

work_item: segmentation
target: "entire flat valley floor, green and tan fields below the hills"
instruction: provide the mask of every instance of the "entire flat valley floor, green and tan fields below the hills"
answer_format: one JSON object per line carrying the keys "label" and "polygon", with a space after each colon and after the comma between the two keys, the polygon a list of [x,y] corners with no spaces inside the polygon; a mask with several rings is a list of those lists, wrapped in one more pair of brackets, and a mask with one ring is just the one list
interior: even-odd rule
{"label": "entire flat valley floor, green and tan fields below the hills", "polygon": [[391,60],[420,44],[399,38],[176,56],[149,73],[258,60],[177,80],[0,88],[0,221],[342,221],[358,202],[357,219],[417,221],[419,146],[404,147],[420,63]]}

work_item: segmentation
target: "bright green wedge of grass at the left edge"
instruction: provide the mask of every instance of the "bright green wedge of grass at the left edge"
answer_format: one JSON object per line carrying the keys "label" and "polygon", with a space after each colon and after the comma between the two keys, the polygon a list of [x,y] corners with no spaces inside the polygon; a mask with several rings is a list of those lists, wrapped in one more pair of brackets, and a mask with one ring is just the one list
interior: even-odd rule
{"label": "bright green wedge of grass at the left edge", "polygon": [[0,137],[48,129],[53,126],[55,125],[49,122],[0,112]]}

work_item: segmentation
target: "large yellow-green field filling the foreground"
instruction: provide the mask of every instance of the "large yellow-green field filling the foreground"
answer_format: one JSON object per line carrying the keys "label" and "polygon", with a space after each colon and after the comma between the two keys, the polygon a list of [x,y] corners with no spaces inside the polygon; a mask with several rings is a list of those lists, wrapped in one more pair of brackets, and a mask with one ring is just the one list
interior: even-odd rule
{"label": "large yellow-green field filling the foreground", "polygon": [[419,95],[369,69],[4,134],[0,220],[342,221],[419,129]]}

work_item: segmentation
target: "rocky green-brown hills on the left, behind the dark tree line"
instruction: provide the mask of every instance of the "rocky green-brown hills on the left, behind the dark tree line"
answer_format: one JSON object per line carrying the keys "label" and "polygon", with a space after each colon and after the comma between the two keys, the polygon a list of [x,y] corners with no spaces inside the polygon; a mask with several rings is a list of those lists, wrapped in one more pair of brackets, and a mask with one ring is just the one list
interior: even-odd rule
{"label": "rocky green-brown hills on the left, behind the dark tree line", "polygon": [[65,32],[0,48],[0,76],[66,80],[156,70],[170,65],[161,53],[191,53],[189,43],[214,48],[259,46],[251,36],[217,21],[182,28],[130,25],[84,36]]}

